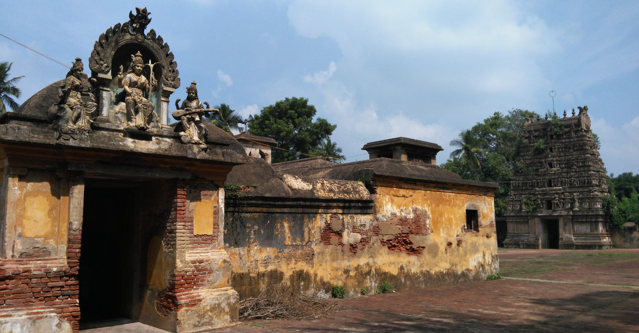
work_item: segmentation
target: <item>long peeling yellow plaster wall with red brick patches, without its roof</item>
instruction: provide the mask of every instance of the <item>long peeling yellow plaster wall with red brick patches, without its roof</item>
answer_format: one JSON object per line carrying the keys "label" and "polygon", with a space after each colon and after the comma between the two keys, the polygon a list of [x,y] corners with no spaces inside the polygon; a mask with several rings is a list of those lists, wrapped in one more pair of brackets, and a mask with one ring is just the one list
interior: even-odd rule
{"label": "long peeling yellow plaster wall with red brick patches, without its roof", "polygon": [[[389,182],[376,186],[371,203],[368,212],[312,211],[313,202],[289,211],[260,211],[257,201],[229,209],[225,245],[240,298],[282,281],[307,292],[342,285],[353,297],[383,282],[403,290],[497,272],[491,193]],[[466,232],[466,209],[478,211],[478,232]]]}

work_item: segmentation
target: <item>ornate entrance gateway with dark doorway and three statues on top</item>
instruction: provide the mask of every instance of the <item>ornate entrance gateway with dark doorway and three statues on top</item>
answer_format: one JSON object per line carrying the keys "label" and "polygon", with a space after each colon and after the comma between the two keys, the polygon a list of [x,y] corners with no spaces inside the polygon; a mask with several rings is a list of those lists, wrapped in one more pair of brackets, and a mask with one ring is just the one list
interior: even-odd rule
{"label": "ornate entrance gateway with dark doorway and three statues on top", "polygon": [[[128,318],[192,332],[235,323],[224,181],[248,159],[203,122],[146,8],[66,78],[0,115],[0,332]],[[206,105],[206,107],[204,107]],[[84,326],[83,326],[84,325]]]}

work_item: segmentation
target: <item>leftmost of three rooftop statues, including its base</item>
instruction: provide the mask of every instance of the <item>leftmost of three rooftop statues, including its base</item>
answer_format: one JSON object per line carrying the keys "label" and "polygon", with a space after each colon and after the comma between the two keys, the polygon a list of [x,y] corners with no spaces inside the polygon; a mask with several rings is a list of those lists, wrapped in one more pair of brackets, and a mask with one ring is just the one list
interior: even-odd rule
{"label": "leftmost of three rooftop statues, including its base", "polygon": [[91,131],[91,114],[96,110],[95,96],[91,93],[95,79],[88,79],[82,71],[84,64],[79,57],[71,69],[66,73],[66,78],[58,89],[58,115],[63,120],[68,115],[66,124],[59,124],[59,137],[69,140],[75,138],[78,131]]}

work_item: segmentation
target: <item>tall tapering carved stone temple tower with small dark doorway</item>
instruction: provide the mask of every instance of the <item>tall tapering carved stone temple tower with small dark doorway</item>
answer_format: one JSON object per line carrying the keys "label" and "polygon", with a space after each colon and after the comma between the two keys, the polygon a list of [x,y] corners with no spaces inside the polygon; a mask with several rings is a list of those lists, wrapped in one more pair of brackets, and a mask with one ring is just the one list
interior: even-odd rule
{"label": "tall tapering carved stone temple tower with small dark doorway", "polygon": [[606,169],[590,130],[588,107],[578,115],[528,119],[507,200],[506,248],[605,249],[612,246],[601,196]]}

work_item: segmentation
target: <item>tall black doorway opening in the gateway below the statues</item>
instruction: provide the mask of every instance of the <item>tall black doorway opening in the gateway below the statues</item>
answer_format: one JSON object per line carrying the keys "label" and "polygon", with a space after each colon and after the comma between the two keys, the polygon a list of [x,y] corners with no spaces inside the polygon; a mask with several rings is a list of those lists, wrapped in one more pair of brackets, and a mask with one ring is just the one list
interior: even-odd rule
{"label": "tall black doorway opening in the gateway below the statues", "polygon": [[127,317],[134,285],[135,225],[129,188],[87,184],[79,269],[81,329],[89,322]]}

